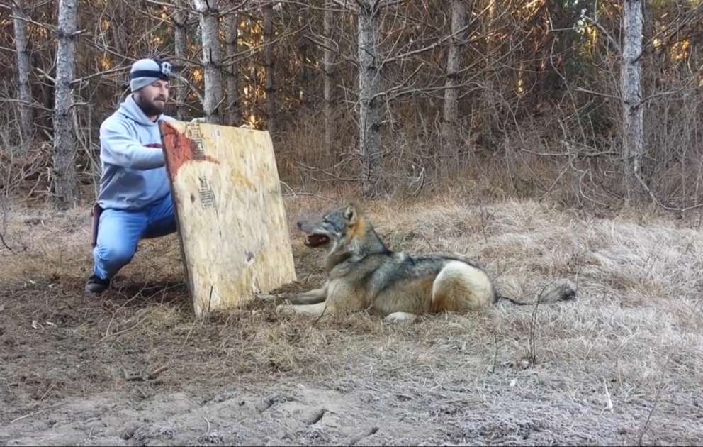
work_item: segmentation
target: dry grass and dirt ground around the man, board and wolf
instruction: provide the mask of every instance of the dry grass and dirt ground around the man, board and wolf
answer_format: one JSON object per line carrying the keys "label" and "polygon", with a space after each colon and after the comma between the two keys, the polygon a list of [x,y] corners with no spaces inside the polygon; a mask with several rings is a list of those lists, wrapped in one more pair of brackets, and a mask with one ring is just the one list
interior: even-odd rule
{"label": "dry grass and dirt ground around the man, board and wolf", "polygon": [[[322,253],[294,223],[327,206],[286,199],[297,287],[320,285]],[[92,297],[86,209],[15,206],[13,253],[0,245],[0,443],[703,443],[698,219],[446,198],[368,211],[395,250],[474,256],[526,301],[554,280],[578,297],[400,325],[271,308],[198,321],[175,237],[142,243],[115,288]]]}

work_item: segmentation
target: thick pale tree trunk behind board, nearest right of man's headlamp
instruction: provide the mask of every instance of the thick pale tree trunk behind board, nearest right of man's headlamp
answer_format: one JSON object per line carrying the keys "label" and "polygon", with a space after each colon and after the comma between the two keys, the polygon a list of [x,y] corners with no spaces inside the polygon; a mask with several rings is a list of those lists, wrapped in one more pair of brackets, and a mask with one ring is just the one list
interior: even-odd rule
{"label": "thick pale tree trunk behind board, nearest right of man's headlamp", "polygon": [[203,111],[207,123],[221,124],[220,100],[223,97],[222,73],[220,72],[220,28],[219,0],[193,0],[193,6],[201,14],[200,28],[203,42],[203,65],[205,66],[205,89]]}

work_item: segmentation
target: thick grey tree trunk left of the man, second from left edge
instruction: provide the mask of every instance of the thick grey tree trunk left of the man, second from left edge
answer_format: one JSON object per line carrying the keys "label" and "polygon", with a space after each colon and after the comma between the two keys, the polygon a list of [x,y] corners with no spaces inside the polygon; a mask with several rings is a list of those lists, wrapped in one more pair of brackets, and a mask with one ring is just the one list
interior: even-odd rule
{"label": "thick grey tree trunk left of the man, second from left edge", "polygon": [[60,0],[58,45],[56,48],[56,86],[54,103],[55,201],[66,207],[78,197],[76,184],[76,138],[69,113],[73,105],[71,82],[76,62],[78,0]]}

